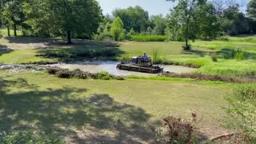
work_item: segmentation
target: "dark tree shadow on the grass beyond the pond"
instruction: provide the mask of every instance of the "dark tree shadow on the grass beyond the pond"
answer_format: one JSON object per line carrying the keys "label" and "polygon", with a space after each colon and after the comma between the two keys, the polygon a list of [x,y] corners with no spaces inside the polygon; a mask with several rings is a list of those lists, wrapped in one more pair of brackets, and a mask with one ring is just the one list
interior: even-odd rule
{"label": "dark tree shadow on the grass beyond the pond", "polygon": [[122,54],[115,43],[110,42],[89,42],[78,43],[68,47],[54,46],[38,49],[38,57],[58,58],[59,61],[78,61],[78,60],[113,60]]}

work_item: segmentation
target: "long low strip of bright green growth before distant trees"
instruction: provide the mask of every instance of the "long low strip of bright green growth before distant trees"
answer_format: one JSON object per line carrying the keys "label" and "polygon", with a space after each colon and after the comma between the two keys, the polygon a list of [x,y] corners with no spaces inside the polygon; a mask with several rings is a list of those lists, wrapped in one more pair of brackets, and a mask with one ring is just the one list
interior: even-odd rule
{"label": "long low strip of bright green growth before distant trees", "polygon": [[164,42],[166,41],[165,35],[132,35],[132,41],[136,42]]}

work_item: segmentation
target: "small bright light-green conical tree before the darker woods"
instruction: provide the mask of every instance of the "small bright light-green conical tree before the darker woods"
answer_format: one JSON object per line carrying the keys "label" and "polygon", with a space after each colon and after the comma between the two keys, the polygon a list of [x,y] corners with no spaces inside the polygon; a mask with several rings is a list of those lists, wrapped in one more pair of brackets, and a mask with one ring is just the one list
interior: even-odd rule
{"label": "small bright light-green conical tree before the darker woods", "polygon": [[118,41],[123,35],[123,23],[121,18],[115,18],[111,25],[110,33],[113,35],[114,40]]}

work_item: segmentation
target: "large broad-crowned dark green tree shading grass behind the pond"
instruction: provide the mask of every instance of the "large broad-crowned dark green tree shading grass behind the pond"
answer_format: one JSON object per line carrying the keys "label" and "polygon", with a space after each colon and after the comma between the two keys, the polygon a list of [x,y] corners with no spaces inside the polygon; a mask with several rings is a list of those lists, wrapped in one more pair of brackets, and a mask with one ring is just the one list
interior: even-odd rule
{"label": "large broad-crowned dark green tree shading grass behind the pond", "polygon": [[96,0],[30,0],[24,5],[32,29],[46,34],[92,37],[102,19]]}

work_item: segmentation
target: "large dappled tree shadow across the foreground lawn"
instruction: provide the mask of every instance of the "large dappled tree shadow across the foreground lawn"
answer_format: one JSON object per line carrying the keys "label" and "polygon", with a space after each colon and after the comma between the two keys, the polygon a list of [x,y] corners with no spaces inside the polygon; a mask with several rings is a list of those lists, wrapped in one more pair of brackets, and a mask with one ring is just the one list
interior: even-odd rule
{"label": "large dappled tree shadow across the foreground lawn", "polygon": [[108,94],[84,97],[81,94],[86,88],[67,86],[41,90],[22,78],[0,78],[0,83],[1,131],[45,131],[74,143],[138,143],[154,139],[150,115],[145,110],[114,102]]}

